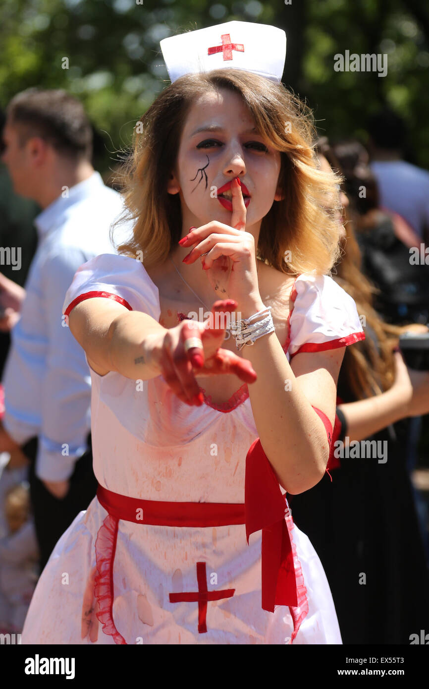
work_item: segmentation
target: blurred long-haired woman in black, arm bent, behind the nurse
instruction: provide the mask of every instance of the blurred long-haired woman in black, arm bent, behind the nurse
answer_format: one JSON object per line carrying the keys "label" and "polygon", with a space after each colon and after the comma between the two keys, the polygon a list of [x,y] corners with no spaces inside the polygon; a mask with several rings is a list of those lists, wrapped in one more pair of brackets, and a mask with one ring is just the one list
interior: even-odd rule
{"label": "blurred long-haired woman in black, arm bent, behind the nurse", "polygon": [[[322,169],[340,169],[326,138]],[[328,159],[326,159],[328,158]],[[329,161],[329,162],[328,162]],[[344,208],[348,200],[342,194]],[[338,217],[339,221],[345,220]],[[333,450],[311,490],[288,495],[293,520],[311,540],[331,588],[344,644],[409,644],[429,624],[428,570],[404,460],[409,416],[429,411],[429,373],[408,369],[393,349],[406,329],[388,325],[372,307],[372,287],[350,223],[342,232],[335,282],[364,316],[366,340],[346,349],[337,386]],[[335,457],[353,441],[381,442],[386,457]],[[362,447],[363,444],[361,443]],[[337,449],[341,446],[337,445]],[[385,461],[386,460],[386,461]]]}

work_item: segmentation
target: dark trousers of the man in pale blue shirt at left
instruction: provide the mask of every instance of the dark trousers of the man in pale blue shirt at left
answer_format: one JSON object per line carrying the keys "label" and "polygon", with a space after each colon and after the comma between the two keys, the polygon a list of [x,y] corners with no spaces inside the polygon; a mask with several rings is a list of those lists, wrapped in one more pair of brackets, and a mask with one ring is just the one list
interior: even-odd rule
{"label": "dark trousers of the man in pale blue shirt at left", "polygon": [[30,460],[28,480],[34,526],[41,555],[41,571],[48,562],[56,542],[70,526],[74,517],[87,508],[96,494],[97,480],[92,471],[91,433],[88,434],[87,442],[89,449],[74,465],[74,472],[70,477],[70,489],[62,500],[52,495],[36,476],[37,438],[31,438],[22,447],[23,453]]}

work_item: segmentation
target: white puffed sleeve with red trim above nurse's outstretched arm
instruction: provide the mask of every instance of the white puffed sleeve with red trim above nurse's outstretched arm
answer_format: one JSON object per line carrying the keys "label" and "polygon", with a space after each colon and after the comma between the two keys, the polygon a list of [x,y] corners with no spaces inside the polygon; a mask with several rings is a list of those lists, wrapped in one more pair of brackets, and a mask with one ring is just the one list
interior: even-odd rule
{"label": "white puffed sleeve with red trim above nurse's outstretched arm", "polygon": [[100,254],[83,263],[74,274],[63,303],[63,315],[85,299],[114,299],[129,311],[143,311],[158,320],[158,288],[141,261],[119,254]]}

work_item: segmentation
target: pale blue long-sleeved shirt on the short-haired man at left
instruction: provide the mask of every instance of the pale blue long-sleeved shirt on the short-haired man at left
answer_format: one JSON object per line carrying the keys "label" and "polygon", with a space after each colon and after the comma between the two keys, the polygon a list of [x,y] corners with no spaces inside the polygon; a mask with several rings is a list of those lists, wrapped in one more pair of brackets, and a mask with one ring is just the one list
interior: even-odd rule
{"label": "pale blue long-sleeved shirt on the short-haired man at left", "polygon": [[[116,253],[109,227],[122,211],[120,194],[94,172],[34,220],[39,245],[25,282],[21,318],[11,331],[3,424],[19,444],[39,436],[36,475],[43,480],[69,478],[87,449],[90,370],[62,307],[79,266],[98,254]],[[123,226],[114,234],[116,242],[119,238],[125,238]]]}

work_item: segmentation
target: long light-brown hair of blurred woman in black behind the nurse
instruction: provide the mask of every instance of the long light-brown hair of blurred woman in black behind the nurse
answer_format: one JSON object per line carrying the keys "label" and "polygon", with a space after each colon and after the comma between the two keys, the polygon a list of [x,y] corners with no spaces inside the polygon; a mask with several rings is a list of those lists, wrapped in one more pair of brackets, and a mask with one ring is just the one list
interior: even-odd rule
{"label": "long light-brown hair of blurred woman in black behind the nurse", "polygon": [[[315,145],[316,154],[323,155],[331,167],[343,175],[339,161],[326,136]],[[350,198],[353,203],[353,197]],[[386,392],[395,380],[393,348],[399,342],[403,327],[390,325],[373,309],[373,295],[378,288],[362,273],[362,253],[357,243],[353,225],[344,210],[345,236],[340,239],[342,258],[335,266],[333,279],[355,300],[359,318],[364,317],[366,339],[346,347],[340,376],[342,386],[353,397],[362,400]],[[372,330],[372,333],[368,331]],[[340,387],[340,386],[339,386]],[[349,402],[352,400],[344,400]]]}

